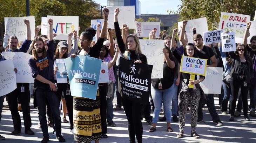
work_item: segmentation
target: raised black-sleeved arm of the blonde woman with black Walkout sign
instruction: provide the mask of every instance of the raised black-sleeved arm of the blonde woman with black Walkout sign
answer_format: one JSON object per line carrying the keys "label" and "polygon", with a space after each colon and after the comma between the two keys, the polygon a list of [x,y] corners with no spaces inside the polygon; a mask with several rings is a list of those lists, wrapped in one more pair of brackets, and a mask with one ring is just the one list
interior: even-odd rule
{"label": "raised black-sleeved arm of the blonde woman with black Walkout sign", "polygon": [[116,32],[116,41],[117,41],[117,44],[119,45],[121,53],[124,53],[125,44],[123,42],[121,32],[120,32],[120,27],[119,27],[119,23],[118,23],[118,19],[117,19],[118,14],[119,14],[119,8],[116,8],[114,11],[114,25],[115,25],[115,32]]}

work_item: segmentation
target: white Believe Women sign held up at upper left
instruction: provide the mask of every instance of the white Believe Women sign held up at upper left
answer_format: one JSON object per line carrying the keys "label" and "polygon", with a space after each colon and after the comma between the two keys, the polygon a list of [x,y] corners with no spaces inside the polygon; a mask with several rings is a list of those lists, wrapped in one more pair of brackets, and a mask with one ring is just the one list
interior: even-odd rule
{"label": "white Believe Women sign held up at upper left", "polygon": [[27,26],[23,20],[29,20],[31,37],[35,37],[35,16],[27,17],[5,17],[5,32],[8,37],[14,35],[19,41],[24,41],[27,37]]}

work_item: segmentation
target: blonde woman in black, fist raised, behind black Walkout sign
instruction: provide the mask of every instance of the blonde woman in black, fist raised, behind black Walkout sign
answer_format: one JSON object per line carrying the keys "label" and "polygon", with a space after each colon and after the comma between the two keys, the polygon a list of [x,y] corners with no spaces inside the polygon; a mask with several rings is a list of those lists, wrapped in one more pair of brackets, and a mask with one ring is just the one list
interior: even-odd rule
{"label": "blonde woman in black, fist raised, behind black Walkout sign", "polygon": [[[119,49],[122,53],[122,57],[126,60],[132,60],[134,63],[146,63],[147,57],[142,54],[140,48],[139,38],[135,35],[128,35],[126,37],[126,44],[124,44],[121,37],[120,27],[117,20],[117,15],[119,14],[119,8],[115,9],[114,13],[114,25],[116,32],[116,40],[119,45]],[[119,86],[119,85],[118,85]],[[122,93],[120,92],[121,96]],[[141,113],[143,109],[143,104],[127,100],[122,98],[123,108],[128,120],[128,131],[130,143],[135,143],[135,134],[138,143],[142,143],[142,123],[141,123]]]}

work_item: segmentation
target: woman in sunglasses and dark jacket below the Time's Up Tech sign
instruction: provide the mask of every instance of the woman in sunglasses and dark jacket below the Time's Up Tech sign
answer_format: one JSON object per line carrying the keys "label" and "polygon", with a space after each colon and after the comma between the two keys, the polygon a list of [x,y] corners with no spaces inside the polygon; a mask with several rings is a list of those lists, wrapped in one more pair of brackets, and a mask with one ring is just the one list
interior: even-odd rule
{"label": "woman in sunglasses and dark jacket below the Time's Up Tech sign", "polygon": [[247,95],[249,90],[249,83],[253,77],[252,59],[245,48],[244,44],[240,44],[236,47],[236,52],[229,52],[232,59],[232,66],[230,69],[231,77],[231,112],[230,121],[234,121],[234,112],[236,108],[236,99],[238,96],[239,88],[241,88],[241,95],[243,101],[244,120],[250,121],[248,118],[248,101]]}

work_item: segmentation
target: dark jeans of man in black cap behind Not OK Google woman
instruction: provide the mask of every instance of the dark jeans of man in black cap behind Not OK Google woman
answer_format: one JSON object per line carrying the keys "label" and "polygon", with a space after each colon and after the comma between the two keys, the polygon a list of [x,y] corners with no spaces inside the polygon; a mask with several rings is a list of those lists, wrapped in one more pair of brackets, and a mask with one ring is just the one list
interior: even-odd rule
{"label": "dark jeans of man in black cap behind Not OK Google woman", "polygon": [[[207,108],[208,108],[209,113],[211,115],[211,118],[214,122],[216,122],[216,121],[220,120],[220,118],[219,118],[219,115],[217,114],[216,109],[215,109],[213,94],[205,94],[205,95],[207,97],[206,105],[207,105]],[[202,108],[198,108],[197,113],[198,113],[197,120],[203,120],[203,110],[202,110]]]}

